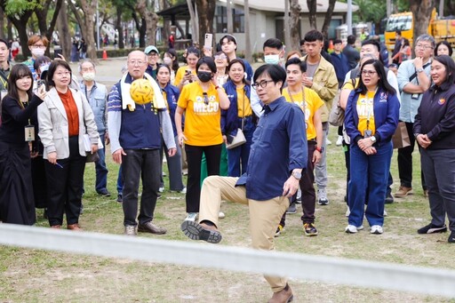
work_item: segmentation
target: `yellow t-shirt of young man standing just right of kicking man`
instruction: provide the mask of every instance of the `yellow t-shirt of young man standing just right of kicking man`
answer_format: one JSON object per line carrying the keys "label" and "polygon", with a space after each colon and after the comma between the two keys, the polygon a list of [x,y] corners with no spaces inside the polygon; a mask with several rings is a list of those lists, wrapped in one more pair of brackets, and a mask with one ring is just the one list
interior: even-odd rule
{"label": "yellow t-shirt of young man standing just right of kicking man", "polygon": [[289,94],[288,88],[283,89],[283,97],[288,102],[297,104],[305,114],[305,124],[307,126],[307,140],[314,140],[316,138],[315,124],[313,124],[313,117],[317,109],[323,106],[323,100],[319,95],[310,88],[304,87],[305,102],[303,101],[302,92],[293,94],[292,98]]}

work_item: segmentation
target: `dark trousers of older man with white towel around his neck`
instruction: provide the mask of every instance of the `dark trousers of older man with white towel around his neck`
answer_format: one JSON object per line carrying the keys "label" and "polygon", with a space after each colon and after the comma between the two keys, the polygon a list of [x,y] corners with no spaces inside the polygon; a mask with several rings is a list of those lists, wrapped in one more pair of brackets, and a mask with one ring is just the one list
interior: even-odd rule
{"label": "dark trousers of older man with white towel around his neck", "polygon": [[153,219],[160,187],[160,153],[158,149],[125,149],[122,155],[122,177],[124,179],[124,225],[137,225],[138,192],[142,178],[139,224]]}

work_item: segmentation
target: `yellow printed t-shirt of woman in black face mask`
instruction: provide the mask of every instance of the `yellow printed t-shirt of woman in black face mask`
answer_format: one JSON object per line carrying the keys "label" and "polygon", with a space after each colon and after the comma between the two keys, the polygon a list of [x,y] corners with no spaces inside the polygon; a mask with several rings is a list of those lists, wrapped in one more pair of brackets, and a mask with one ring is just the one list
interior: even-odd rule
{"label": "yellow printed t-shirt of woman in black face mask", "polygon": [[[207,101],[208,104],[205,104]],[[186,144],[206,147],[223,142],[220,99],[213,84],[207,96],[197,82],[183,86],[178,105],[185,109]]]}

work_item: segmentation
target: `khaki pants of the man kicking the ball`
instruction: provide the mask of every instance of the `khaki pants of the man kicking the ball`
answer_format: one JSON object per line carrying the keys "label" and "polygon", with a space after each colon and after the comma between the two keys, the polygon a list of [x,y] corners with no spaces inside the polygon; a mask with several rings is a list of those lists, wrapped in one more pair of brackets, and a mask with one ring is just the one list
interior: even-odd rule
{"label": "khaki pants of the man kicking the ball", "polygon": [[[277,196],[266,201],[251,200],[246,197],[245,187],[235,187],[238,178],[210,176],[204,179],[199,207],[199,222],[209,220],[217,227],[221,200],[243,203],[250,210],[250,230],[252,247],[258,250],[273,251],[276,227],[284,211],[289,207],[289,199]],[[283,277],[265,276],[272,291],[282,291],[287,280]]]}

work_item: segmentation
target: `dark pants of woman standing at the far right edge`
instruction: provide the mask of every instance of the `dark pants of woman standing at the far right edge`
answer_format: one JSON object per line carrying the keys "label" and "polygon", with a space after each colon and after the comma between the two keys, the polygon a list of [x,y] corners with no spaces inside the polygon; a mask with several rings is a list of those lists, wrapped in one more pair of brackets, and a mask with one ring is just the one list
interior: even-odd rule
{"label": "dark pants of woman standing at the far right edge", "polygon": [[420,149],[420,161],[428,187],[431,223],[442,227],[445,215],[455,231],[455,149]]}

